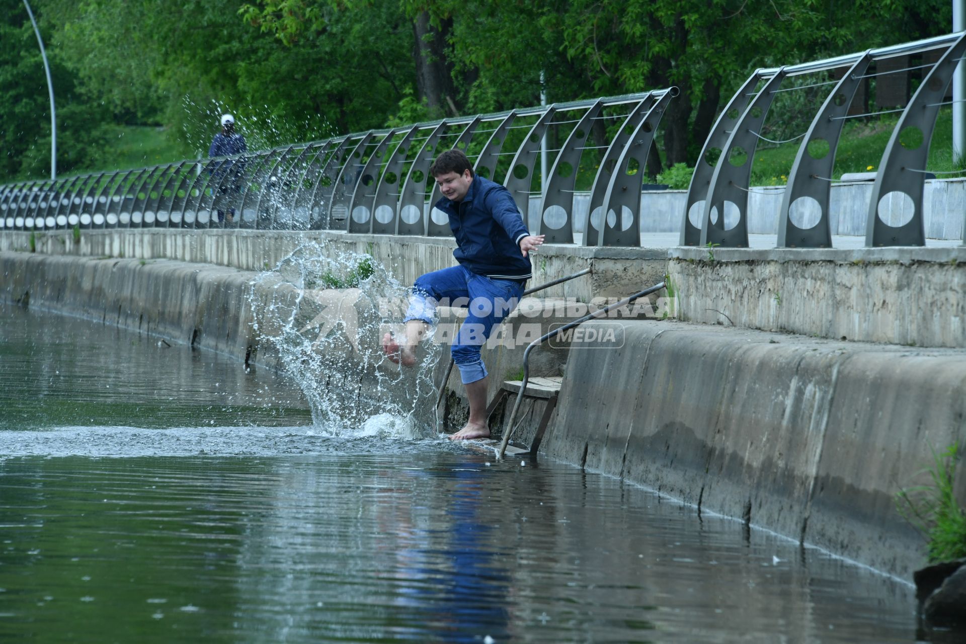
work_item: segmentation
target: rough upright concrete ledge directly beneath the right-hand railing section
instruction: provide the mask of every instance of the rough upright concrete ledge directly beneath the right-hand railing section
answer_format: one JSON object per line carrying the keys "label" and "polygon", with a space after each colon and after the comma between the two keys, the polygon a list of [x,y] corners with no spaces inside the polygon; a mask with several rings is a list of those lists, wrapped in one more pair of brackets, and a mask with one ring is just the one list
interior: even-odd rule
{"label": "rough upright concrete ledge directly beneath the right-hand railing section", "polygon": [[669,252],[681,320],[966,347],[966,247]]}

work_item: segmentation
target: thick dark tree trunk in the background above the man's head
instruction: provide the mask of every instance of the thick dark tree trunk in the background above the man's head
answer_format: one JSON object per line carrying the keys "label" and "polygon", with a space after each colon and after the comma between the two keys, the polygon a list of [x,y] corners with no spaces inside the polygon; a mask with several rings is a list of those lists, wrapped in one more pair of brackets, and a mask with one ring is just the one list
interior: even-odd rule
{"label": "thick dark tree trunk in the background above the man's head", "polygon": [[446,60],[446,36],[452,30],[451,18],[443,20],[440,29],[430,22],[429,12],[412,21],[415,36],[413,58],[416,63],[416,92],[426,98],[430,111],[459,116],[452,65]]}

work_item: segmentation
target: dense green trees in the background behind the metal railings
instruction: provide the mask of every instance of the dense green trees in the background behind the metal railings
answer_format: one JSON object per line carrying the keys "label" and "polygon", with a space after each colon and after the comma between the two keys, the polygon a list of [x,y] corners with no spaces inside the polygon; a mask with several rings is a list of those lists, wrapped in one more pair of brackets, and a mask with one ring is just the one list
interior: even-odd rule
{"label": "dense green trees in the background behind the metal railings", "polygon": [[[0,8],[0,182],[43,177],[40,54],[22,3],[0,0]],[[549,102],[678,86],[655,141],[671,166],[664,181],[681,188],[678,164],[696,163],[714,116],[752,70],[935,36],[951,14],[939,0],[35,0],[34,9],[57,94],[60,174],[204,154],[223,111],[255,151],[529,106],[543,73]],[[444,97],[427,80],[434,65]],[[801,134],[827,89],[781,93],[762,135]],[[157,153],[147,142],[124,150],[118,126],[166,140]],[[594,145],[616,126],[595,124]],[[568,133],[554,128],[551,147]],[[756,184],[786,181],[797,150],[770,146],[755,154]],[[597,163],[599,153],[582,155],[578,189],[590,186]]]}

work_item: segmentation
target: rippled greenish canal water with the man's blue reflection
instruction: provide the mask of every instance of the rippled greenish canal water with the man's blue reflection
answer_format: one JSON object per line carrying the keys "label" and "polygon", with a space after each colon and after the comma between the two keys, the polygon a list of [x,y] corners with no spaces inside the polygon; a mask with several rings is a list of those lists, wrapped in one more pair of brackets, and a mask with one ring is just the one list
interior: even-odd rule
{"label": "rippled greenish canal water with the man's blue reflection", "polygon": [[2,642],[914,642],[913,589],[268,369],[0,307]]}

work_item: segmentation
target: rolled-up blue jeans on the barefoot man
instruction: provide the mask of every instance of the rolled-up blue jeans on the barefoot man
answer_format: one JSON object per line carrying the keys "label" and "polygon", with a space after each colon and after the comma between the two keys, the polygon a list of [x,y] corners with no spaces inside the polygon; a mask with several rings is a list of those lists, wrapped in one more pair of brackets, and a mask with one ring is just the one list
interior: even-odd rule
{"label": "rolled-up blue jeans on the barefoot man", "polygon": [[467,308],[467,319],[460,326],[450,352],[464,384],[486,378],[480,348],[493,328],[517,308],[524,286],[512,280],[491,279],[470,272],[463,266],[434,270],[420,276],[412,286],[406,322],[421,320],[432,324],[438,304]]}

